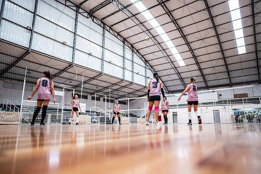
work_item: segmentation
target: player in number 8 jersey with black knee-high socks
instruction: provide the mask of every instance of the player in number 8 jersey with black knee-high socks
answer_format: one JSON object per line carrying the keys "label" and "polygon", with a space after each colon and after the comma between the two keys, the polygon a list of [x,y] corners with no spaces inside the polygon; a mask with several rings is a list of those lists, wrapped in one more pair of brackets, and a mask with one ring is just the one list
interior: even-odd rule
{"label": "player in number 8 jersey with black knee-high socks", "polygon": [[44,103],[44,106],[43,106],[43,110],[42,110],[42,119],[41,119],[40,126],[45,126],[44,121],[45,121],[45,117],[46,117],[47,107],[51,100],[51,93],[53,95],[53,103],[56,103],[55,96],[54,96],[53,81],[51,80],[50,71],[43,72],[43,78],[38,79],[32,95],[29,96],[29,98],[27,98],[27,100],[31,100],[37,90],[38,90],[37,108],[35,109],[35,111],[33,113],[33,119],[32,119],[30,126],[34,126],[35,119],[36,119],[39,111],[41,110],[43,103]]}

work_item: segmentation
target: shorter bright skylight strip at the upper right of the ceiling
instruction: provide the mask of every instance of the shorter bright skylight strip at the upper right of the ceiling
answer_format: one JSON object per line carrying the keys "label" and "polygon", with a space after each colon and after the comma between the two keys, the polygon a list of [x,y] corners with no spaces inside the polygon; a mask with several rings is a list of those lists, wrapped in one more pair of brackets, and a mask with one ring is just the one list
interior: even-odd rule
{"label": "shorter bright skylight strip at the upper right of the ceiling", "polygon": [[228,5],[234,28],[238,54],[246,53],[246,46],[238,0],[229,0]]}

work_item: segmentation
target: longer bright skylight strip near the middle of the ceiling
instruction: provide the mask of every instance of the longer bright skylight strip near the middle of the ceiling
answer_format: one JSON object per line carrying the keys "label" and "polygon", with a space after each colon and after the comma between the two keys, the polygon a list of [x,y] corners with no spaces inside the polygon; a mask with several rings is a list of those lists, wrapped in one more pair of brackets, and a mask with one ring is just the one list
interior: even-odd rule
{"label": "longer bright skylight strip near the middle of the ceiling", "polygon": [[[177,60],[179,66],[185,66],[185,62],[182,59],[182,56],[178,53],[176,47],[170,41],[170,38],[168,34],[164,31],[162,26],[159,25],[157,20],[153,17],[153,15],[150,13],[150,11],[145,7],[145,5],[137,0],[130,0],[132,3],[134,3],[134,6],[142,12],[143,16],[146,18],[146,20],[150,23],[150,25],[157,31],[158,35],[162,37],[162,40],[165,42],[165,44],[169,47],[170,51],[174,55],[175,59]],[[135,3],[136,2],[136,3]]]}

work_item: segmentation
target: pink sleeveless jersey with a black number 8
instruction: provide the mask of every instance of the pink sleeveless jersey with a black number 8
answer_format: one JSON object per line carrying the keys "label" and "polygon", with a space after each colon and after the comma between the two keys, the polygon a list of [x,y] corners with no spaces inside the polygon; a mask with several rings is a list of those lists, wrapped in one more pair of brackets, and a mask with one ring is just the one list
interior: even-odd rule
{"label": "pink sleeveless jersey with a black number 8", "polygon": [[51,84],[48,78],[41,78],[37,99],[51,100]]}

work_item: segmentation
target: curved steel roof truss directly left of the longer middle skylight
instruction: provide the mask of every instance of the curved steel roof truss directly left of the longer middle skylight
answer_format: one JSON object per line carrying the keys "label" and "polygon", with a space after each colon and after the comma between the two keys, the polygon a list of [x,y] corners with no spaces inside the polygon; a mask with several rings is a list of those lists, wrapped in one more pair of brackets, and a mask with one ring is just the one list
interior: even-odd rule
{"label": "curved steel roof truss directly left of the longer middle skylight", "polygon": [[[112,0],[110,0],[112,2]],[[166,57],[167,61],[169,62],[169,64],[171,65],[171,67],[173,68],[173,70],[175,71],[175,73],[177,74],[180,82],[182,83],[182,85],[184,86],[184,88],[186,88],[186,84],[182,79],[182,76],[179,74],[179,72],[177,71],[175,65],[173,64],[173,62],[171,61],[170,57],[168,56],[168,54],[165,52],[165,50],[163,49],[163,47],[158,43],[158,41],[156,40],[156,38],[151,34],[151,32],[143,25],[143,23],[141,23],[125,6],[123,6],[121,3],[119,3],[119,1],[116,2],[117,7],[124,12],[140,29],[142,29],[150,38],[151,40],[154,42],[154,44],[157,46],[157,48],[163,53],[163,55]],[[167,88],[165,89],[166,92],[168,92]]]}

